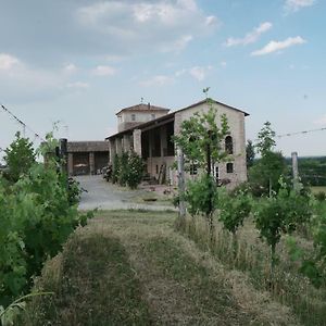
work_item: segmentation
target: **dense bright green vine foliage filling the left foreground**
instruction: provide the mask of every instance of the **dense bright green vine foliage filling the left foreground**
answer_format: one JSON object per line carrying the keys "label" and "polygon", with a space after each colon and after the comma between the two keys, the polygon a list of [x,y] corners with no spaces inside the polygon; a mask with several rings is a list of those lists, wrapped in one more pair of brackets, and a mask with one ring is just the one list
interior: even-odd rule
{"label": "dense bright green vine foliage filling the left foreground", "polygon": [[71,199],[67,177],[54,160],[34,163],[13,185],[0,181],[1,305],[26,292],[45,261],[90,217],[79,215]]}

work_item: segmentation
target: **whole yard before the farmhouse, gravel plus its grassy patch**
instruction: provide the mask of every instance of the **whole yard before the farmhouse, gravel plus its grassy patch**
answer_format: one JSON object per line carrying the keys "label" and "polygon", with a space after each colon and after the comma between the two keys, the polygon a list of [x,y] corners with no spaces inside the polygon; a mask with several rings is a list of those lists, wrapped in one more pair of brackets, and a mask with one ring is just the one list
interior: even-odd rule
{"label": "whole yard before the farmhouse, gravel plus its grassy patch", "polygon": [[[101,175],[78,176],[76,180],[84,191],[82,193],[79,209],[83,211],[100,210],[174,210],[171,203],[171,196],[163,196],[162,189],[167,192],[172,190],[162,186],[141,186],[137,190],[122,188],[106,183]],[[155,191],[152,191],[155,190]],[[149,201],[146,201],[146,200]],[[155,200],[155,204],[151,199]]]}

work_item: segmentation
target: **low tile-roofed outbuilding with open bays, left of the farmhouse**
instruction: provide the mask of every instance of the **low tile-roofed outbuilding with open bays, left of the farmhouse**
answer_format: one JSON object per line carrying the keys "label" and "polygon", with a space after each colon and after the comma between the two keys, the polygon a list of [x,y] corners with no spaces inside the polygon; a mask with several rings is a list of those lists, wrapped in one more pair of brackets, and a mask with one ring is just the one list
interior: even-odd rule
{"label": "low tile-roofed outbuilding with open bays, left of the farmhouse", "polygon": [[70,175],[97,174],[109,162],[108,141],[68,141],[67,168]]}

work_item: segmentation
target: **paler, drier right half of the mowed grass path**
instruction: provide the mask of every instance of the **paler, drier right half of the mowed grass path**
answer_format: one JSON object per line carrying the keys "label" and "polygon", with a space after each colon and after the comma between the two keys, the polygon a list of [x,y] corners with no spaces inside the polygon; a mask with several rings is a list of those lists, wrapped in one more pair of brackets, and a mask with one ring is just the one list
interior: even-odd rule
{"label": "paler, drier right half of the mowed grass path", "polygon": [[176,233],[174,214],[123,216],[103,216],[93,227],[121,239],[155,324],[299,325],[288,308]]}

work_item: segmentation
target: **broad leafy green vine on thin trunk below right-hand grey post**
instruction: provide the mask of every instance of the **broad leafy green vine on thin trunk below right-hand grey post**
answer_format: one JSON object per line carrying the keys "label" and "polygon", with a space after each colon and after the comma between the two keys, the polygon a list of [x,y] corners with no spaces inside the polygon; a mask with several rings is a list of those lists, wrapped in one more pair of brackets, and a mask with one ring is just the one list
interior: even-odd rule
{"label": "broad leafy green vine on thin trunk below right-hand grey post", "polygon": [[269,198],[261,199],[255,208],[255,226],[271,247],[272,267],[276,262],[276,244],[285,234],[291,234],[313,214],[310,198],[290,190],[280,180],[280,189]]}

